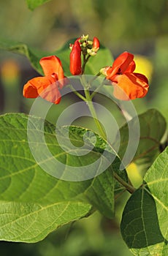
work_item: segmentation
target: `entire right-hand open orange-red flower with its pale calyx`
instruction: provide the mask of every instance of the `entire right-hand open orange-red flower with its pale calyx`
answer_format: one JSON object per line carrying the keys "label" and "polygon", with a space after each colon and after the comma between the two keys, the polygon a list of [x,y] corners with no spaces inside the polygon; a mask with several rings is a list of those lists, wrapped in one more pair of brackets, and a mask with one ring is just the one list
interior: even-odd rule
{"label": "entire right-hand open orange-red flower with its pale calyx", "polygon": [[[117,99],[129,100],[145,97],[148,92],[148,79],[145,75],[134,73],[134,55],[121,53],[112,67],[105,67],[102,72],[112,81],[114,96]],[[121,90],[122,89],[122,90]]]}

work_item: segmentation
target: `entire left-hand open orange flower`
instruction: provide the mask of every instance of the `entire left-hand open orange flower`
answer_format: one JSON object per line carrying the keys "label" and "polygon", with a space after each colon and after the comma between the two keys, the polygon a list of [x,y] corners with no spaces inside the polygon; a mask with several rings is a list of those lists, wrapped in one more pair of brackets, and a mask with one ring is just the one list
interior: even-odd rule
{"label": "entire left-hand open orange flower", "polygon": [[60,59],[56,56],[48,56],[40,59],[45,76],[33,78],[23,87],[23,96],[26,98],[37,98],[38,96],[49,102],[58,104],[64,84],[64,71]]}

